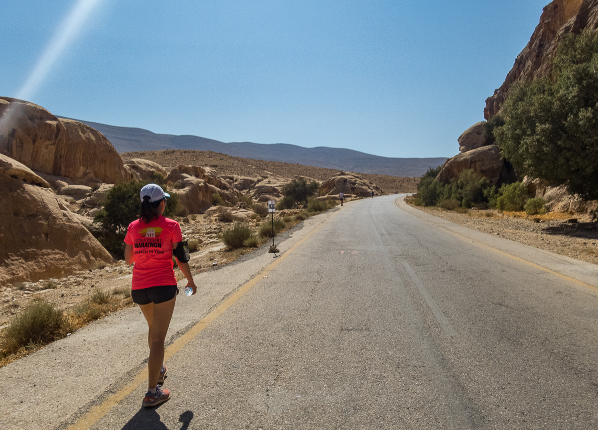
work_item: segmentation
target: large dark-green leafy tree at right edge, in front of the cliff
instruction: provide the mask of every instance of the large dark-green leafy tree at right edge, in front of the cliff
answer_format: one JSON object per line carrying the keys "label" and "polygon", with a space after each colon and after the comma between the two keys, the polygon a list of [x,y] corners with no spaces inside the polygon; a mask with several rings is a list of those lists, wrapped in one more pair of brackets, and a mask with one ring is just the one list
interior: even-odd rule
{"label": "large dark-green leafy tree at right edge, in front of the cliff", "polygon": [[598,199],[598,33],[563,37],[553,75],[511,87],[496,143],[518,172]]}

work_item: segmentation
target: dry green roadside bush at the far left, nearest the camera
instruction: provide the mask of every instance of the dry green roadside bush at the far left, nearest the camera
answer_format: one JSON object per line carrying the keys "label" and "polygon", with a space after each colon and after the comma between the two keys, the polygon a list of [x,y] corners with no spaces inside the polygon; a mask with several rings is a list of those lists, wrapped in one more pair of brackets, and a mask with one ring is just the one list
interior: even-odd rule
{"label": "dry green roadside bush at the far left, nearest the camera", "polygon": [[29,344],[44,345],[65,337],[72,326],[61,310],[42,298],[33,300],[5,331],[4,349],[14,353]]}

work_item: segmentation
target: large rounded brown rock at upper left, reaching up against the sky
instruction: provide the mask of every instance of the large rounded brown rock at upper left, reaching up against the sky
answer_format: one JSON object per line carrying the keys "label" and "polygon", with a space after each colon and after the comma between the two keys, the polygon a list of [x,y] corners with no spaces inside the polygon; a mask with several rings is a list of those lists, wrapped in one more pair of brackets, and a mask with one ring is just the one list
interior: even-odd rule
{"label": "large rounded brown rock at upper left, reaching up against the sky", "polygon": [[10,97],[0,97],[0,154],[36,172],[79,179],[79,184],[114,184],[137,177],[123,166],[102,133]]}

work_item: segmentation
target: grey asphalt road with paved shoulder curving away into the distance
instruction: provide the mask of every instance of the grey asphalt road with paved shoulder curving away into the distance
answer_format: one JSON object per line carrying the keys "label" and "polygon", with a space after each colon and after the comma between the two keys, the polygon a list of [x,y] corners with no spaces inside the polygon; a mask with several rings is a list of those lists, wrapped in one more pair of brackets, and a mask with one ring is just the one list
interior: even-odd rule
{"label": "grey asphalt road with paved shoulder curving away into the distance", "polygon": [[[118,377],[71,409],[57,405],[63,416],[51,425],[598,428],[598,267],[395,200],[351,202],[308,220],[276,259],[246,258],[213,272],[209,285],[197,277],[206,292],[177,304],[165,383],[172,398],[157,408],[141,407],[141,315],[108,319],[136,324],[135,334],[114,341]],[[103,362],[98,377],[110,371],[111,359],[87,352],[83,360]],[[14,379],[15,370],[31,372],[23,363],[0,377],[26,383]],[[62,386],[45,395],[60,396]],[[48,428],[28,412],[19,410],[19,428]],[[16,423],[10,417],[0,413],[3,428]]]}

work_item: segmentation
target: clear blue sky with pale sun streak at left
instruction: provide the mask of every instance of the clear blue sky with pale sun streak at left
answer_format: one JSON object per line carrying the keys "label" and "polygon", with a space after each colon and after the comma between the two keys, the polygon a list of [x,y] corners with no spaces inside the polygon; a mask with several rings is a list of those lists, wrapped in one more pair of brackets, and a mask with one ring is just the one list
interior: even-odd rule
{"label": "clear blue sky with pale sun streak at left", "polygon": [[547,3],[2,0],[0,96],[155,133],[451,157]]}

